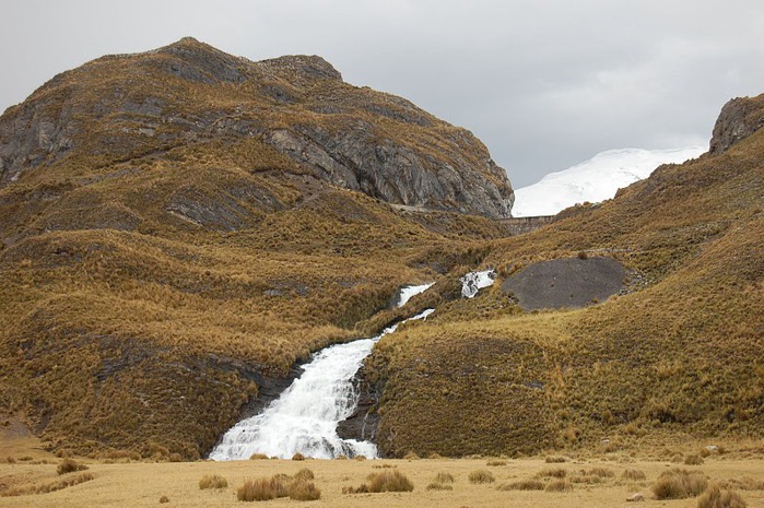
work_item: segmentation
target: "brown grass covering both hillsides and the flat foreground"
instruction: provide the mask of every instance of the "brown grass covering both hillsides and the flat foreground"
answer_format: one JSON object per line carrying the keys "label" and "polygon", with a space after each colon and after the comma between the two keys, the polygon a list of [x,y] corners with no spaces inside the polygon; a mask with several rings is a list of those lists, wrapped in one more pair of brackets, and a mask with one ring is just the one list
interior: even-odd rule
{"label": "brown grass covering both hillsides and the flat foreground", "polygon": [[[509,237],[485,217],[396,210],[316,178],[257,137],[189,125],[220,111],[254,129],[361,118],[432,157],[455,150],[445,140],[458,129],[422,111],[420,122],[380,119],[365,106],[413,113],[336,80],[306,87],[284,78],[291,69],[238,85],[150,72],[166,58],[99,59],[32,97],[90,127],[77,150],[47,154],[0,188],[0,495],[25,493],[0,506],[162,496],[230,506],[246,480],[306,464],[314,503],[331,506],[612,506],[634,491],[658,506],[649,487],[667,465],[697,469],[749,501],[764,496],[764,130]],[[263,95],[262,83],[297,106]],[[175,120],[141,134],[140,115],[101,104],[115,90],[131,104],[158,93]],[[327,102],[342,110],[315,113]],[[463,156],[479,164],[486,152],[470,146]],[[620,260],[628,290],[533,312],[501,290],[530,263],[577,256]],[[497,283],[460,298],[458,277],[486,267]],[[424,282],[436,284],[390,308],[398,288]],[[413,493],[352,495],[343,487],[380,462],[156,463],[201,459],[263,383],[312,352],[426,307],[437,310],[367,359],[381,393],[379,448],[396,459],[486,459],[388,460]],[[703,452],[708,444],[726,452]],[[59,479],[68,456],[90,469]],[[622,479],[626,469],[646,480]],[[470,483],[481,470],[495,482]],[[213,474],[228,486],[200,489]]]}

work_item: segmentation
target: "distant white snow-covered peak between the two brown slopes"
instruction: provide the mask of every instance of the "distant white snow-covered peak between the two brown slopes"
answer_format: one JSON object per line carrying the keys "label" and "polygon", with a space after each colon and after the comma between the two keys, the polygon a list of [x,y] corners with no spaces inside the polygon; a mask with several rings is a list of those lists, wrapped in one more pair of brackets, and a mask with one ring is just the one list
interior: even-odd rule
{"label": "distant white snow-covered peak between the two brown slopes", "polygon": [[684,149],[608,150],[538,182],[515,189],[513,216],[554,215],[584,201],[611,199],[622,188],[647,178],[661,164],[679,164],[704,153],[703,146]]}

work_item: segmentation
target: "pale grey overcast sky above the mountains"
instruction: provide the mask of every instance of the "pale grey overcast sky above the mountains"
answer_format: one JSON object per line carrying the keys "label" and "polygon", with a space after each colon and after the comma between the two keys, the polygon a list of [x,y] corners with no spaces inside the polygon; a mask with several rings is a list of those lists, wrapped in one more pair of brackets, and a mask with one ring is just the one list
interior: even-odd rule
{"label": "pale grey overcast sky above the mountains", "polygon": [[706,145],[764,93],[761,0],[0,0],[0,110],[57,72],[190,35],[320,55],[470,129],[515,187],[620,147]]}

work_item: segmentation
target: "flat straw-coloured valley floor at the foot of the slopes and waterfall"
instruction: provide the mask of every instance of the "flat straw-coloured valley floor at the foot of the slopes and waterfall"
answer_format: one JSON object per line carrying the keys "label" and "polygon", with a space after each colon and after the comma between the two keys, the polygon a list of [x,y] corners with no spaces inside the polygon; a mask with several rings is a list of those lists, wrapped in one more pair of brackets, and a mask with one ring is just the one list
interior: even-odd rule
{"label": "flat straw-coloured valley floor at the foot of the slopes and waterfall", "polygon": [[[2,451],[9,451],[0,444]],[[5,444],[7,445],[7,444]],[[20,449],[16,449],[20,450]],[[10,456],[9,456],[10,457]],[[75,477],[80,472],[57,475],[60,462],[52,456],[45,457],[40,450],[19,456],[15,463],[8,463],[3,454],[0,464],[0,495],[12,487],[32,484],[42,485],[60,479]],[[155,507],[163,496],[168,498],[162,506],[242,507],[236,499],[236,489],[246,480],[271,476],[278,473],[295,474],[303,468],[315,474],[315,484],[321,491],[316,501],[296,501],[282,498],[266,501],[267,507],[281,506],[331,506],[331,507],[613,507],[632,505],[626,498],[642,493],[643,507],[666,506],[675,508],[696,507],[697,499],[657,500],[650,486],[663,472],[672,468],[701,471],[712,482],[739,481],[755,485],[755,491],[738,491],[749,507],[764,506],[764,461],[761,450],[755,452],[730,452],[710,456],[702,465],[671,463],[634,459],[627,454],[609,454],[596,459],[568,459],[564,463],[546,463],[543,458],[534,459],[426,459],[426,460],[249,460],[237,462],[184,462],[184,463],[103,463],[87,462],[93,480],[48,494],[28,494],[0,497],[0,507]],[[491,464],[491,465],[489,465]],[[472,484],[471,472],[485,470],[495,482]],[[534,479],[540,472],[565,470],[573,489],[563,493],[544,491],[499,491],[503,484]],[[639,470],[646,480],[623,480],[625,470]],[[357,487],[371,473],[400,471],[414,484],[412,493],[343,494],[343,487]],[[593,484],[580,482],[581,472],[599,472]],[[606,473],[601,473],[606,471]],[[454,476],[452,491],[428,491],[427,485],[438,473]],[[610,475],[612,473],[612,475]],[[218,474],[227,480],[223,489],[199,488],[199,480],[207,474]],[[589,476],[591,477],[591,476]],[[749,479],[749,480],[747,480]],[[545,484],[556,479],[542,477]]]}

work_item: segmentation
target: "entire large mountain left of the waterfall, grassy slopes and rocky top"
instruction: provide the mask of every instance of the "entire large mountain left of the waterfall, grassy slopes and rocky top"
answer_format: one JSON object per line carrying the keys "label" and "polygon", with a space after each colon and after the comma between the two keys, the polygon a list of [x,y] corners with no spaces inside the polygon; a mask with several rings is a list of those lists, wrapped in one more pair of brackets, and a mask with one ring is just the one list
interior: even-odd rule
{"label": "entire large mountain left of the waterfall, grassy slopes and rocky top", "polygon": [[9,108],[0,175],[0,412],[51,449],[164,459],[386,324],[401,285],[479,262],[512,200],[479,141],[404,99],[192,39]]}

